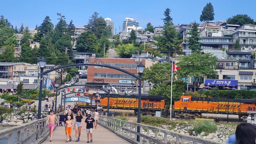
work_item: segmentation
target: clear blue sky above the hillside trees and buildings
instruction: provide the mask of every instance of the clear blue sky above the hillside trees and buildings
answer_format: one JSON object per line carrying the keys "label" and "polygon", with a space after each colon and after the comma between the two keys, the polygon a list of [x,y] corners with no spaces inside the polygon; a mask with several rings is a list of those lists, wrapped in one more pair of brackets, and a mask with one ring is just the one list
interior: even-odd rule
{"label": "clear blue sky above the hillside trees and buildings", "polygon": [[256,0],[0,0],[0,15],[4,15],[14,27],[23,23],[34,29],[46,15],[56,25],[57,13],[64,15],[67,23],[72,19],[76,27],[83,27],[89,16],[98,12],[103,18],[111,18],[118,32],[125,17],[134,18],[143,29],[148,22],[154,27],[163,25],[161,18],[164,18],[163,12],[167,7],[172,10],[170,15],[174,24],[200,22],[201,12],[208,2],[214,7],[214,21],[226,20],[237,14],[247,14],[256,20]]}

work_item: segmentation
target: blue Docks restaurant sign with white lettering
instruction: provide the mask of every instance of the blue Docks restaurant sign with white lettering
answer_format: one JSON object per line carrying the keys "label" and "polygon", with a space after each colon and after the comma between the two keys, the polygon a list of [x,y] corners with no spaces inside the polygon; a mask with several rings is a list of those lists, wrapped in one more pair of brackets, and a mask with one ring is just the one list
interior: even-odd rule
{"label": "blue Docks restaurant sign with white lettering", "polygon": [[210,86],[238,86],[238,80],[206,79],[204,85]]}

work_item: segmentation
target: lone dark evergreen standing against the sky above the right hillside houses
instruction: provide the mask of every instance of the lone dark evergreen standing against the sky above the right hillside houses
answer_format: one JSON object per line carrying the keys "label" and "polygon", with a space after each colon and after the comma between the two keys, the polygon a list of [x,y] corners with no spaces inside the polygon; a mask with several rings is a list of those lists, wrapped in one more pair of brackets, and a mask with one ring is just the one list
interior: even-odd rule
{"label": "lone dark evergreen standing against the sky above the right hillside houses", "polygon": [[209,21],[214,20],[214,9],[212,4],[209,2],[206,4],[206,6],[204,7],[202,14],[200,16],[200,21],[206,21],[207,22],[207,26],[209,24]]}

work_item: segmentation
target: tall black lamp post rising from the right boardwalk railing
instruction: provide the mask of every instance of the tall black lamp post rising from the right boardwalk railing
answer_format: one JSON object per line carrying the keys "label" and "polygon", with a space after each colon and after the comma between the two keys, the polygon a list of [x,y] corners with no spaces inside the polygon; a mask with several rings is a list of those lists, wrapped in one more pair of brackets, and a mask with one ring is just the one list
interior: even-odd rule
{"label": "tall black lamp post rising from the right boardwalk railing", "polygon": [[[140,123],[140,114],[141,114],[141,79],[142,79],[142,74],[144,71],[145,66],[142,64],[142,61],[140,64],[137,66],[138,74],[139,74],[139,104],[138,104],[138,121],[137,123]],[[137,127],[137,132],[140,133],[140,126]],[[140,136],[137,136],[137,141],[140,142]]]}

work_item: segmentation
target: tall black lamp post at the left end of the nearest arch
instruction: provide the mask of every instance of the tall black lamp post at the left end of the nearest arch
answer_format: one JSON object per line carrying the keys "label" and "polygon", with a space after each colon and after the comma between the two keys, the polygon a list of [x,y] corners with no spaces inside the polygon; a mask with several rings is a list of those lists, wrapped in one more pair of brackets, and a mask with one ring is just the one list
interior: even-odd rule
{"label": "tall black lamp post at the left end of the nearest arch", "polygon": [[43,75],[44,67],[46,65],[46,60],[44,57],[39,59],[40,66],[40,88],[39,88],[39,101],[38,101],[38,117],[37,119],[41,119],[41,105],[42,105],[42,89],[43,89]]}

